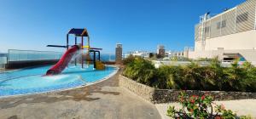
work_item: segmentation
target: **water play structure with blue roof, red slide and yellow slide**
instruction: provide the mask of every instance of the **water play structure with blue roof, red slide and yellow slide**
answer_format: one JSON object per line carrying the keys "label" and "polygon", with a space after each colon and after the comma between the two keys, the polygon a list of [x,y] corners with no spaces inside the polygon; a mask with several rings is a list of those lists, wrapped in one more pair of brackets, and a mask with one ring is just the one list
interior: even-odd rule
{"label": "water play structure with blue roof, red slide and yellow slide", "polygon": [[[69,45],[69,35],[74,35],[75,37],[75,44],[70,47]],[[78,37],[81,37],[81,43],[78,43]],[[87,45],[84,45],[84,37],[87,37]],[[87,52],[85,52],[87,57],[87,64],[90,62],[90,53],[93,53],[93,65],[94,69],[96,70],[104,70],[105,65],[101,62],[101,53],[100,50],[102,48],[91,48],[90,47],[90,37],[88,34],[88,31],[84,29],[71,29],[67,32],[67,45],[66,46],[60,46],[60,45],[48,45],[47,47],[56,47],[56,48],[67,48],[67,51],[65,54],[61,56],[61,59],[53,65],[47,72],[46,75],[55,75],[60,74],[61,71],[63,71],[70,60],[73,58],[73,55],[77,53],[77,51],[81,50],[81,65],[82,68],[84,68],[84,48],[87,49]],[[96,59],[96,53],[98,53],[98,59]],[[74,64],[77,65],[77,58],[74,59]]]}

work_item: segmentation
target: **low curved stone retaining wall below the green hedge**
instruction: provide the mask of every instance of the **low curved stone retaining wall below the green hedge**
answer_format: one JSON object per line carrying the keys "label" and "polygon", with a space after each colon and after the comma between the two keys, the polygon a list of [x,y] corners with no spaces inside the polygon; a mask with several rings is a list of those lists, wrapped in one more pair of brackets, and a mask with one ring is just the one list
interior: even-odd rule
{"label": "low curved stone retaining wall below the green hedge", "polygon": [[[182,90],[176,89],[156,89],[151,88],[141,83],[135,82],[127,77],[119,75],[119,86],[127,88],[134,94],[148,100],[151,103],[168,103],[176,102],[178,94]],[[256,99],[256,93],[244,93],[244,92],[224,92],[224,91],[197,91],[187,90],[189,95],[202,95],[210,94],[215,100],[227,100],[227,99]]]}

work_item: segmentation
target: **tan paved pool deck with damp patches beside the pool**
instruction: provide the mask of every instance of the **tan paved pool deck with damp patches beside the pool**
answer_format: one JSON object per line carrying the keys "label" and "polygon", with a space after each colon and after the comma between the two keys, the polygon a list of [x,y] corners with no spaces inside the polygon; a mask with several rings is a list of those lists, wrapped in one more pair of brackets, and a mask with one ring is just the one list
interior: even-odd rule
{"label": "tan paved pool deck with damp patches beside the pool", "polygon": [[155,105],[119,87],[118,75],[84,88],[0,99],[0,118],[160,118]]}

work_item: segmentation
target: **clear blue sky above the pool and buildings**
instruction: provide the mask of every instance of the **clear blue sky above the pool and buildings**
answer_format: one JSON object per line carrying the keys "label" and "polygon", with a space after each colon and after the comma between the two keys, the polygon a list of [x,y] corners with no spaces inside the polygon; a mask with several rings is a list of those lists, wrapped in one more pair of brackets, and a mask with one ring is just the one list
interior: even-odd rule
{"label": "clear blue sky above the pool and buildings", "polygon": [[[183,50],[194,46],[199,16],[221,13],[245,0],[0,0],[0,52],[9,48],[64,51],[70,28],[86,27],[91,46],[114,53],[124,51]],[[73,40],[74,41],[74,40]]]}

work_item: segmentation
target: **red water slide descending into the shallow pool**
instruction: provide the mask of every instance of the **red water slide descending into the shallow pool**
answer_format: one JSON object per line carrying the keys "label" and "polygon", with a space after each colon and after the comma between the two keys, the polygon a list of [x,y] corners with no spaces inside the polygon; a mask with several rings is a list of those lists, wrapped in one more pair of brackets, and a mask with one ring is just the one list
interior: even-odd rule
{"label": "red water slide descending into the shallow pool", "polygon": [[63,71],[66,66],[68,65],[68,62],[72,59],[73,54],[75,54],[79,50],[79,46],[73,45],[71,48],[69,48],[64,55],[62,55],[61,59],[56,63],[54,66],[52,66],[47,72],[46,75],[56,75],[60,74],[61,71]]}

